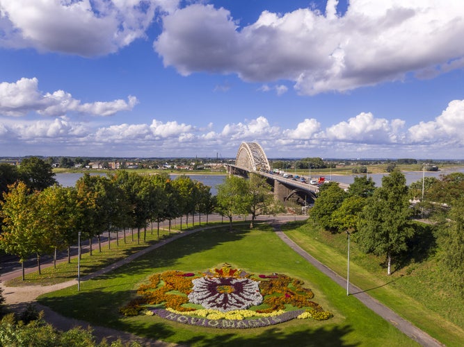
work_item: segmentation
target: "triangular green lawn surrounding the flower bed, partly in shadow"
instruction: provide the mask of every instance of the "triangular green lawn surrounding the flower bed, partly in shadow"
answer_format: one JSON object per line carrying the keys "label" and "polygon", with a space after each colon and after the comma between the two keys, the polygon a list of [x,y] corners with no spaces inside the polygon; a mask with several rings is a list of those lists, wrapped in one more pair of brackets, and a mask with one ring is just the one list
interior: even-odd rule
{"label": "triangular green lawn surrounding the flower bed, partly in shadow", "polygon": [[[271,228],[235,226],[203,230],[158,248],[111,273],[40,296],[56,312],[92,325],[189,346],[417,346],[393,325],[367,309],[323,273],[286,246]],[[248,273],[284,273],[300,278],[314,299],[334,317],[298,320],[248,330],[219,330],[183,325],[157,316],[120,316],[118,309],[134,298],[152,273],[166,270],[206,271],[225,262]]]}

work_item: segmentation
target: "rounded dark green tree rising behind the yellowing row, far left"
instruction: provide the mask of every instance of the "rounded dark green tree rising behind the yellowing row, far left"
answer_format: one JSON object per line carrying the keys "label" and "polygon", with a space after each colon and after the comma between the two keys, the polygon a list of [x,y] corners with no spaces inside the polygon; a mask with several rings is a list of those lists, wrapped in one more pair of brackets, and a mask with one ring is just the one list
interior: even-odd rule
{"label": "rounded dark green tree rising behind the yellowing row, far left", "polygon": [[30,189],[43,190],[55,185],[54,176],[51,165],[40,158],[24,158],[19,164],[19,177]]}

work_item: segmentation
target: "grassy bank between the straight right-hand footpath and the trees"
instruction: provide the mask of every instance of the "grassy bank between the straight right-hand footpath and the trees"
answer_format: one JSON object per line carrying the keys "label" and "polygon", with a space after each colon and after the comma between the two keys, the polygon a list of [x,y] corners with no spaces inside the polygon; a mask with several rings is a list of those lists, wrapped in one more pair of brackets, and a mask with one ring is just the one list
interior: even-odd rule
{"label": "grassy bank between the straight right-hand footpath and the trees", "polygon": [[[300,224],[299,228],[296,228],[296,223],[293,223],[293,227],[287,226],[285,234],[313,257],[346,278],[346,235],[333,235],[319,230],[311,222]],[[428,269],[433,260],[414,264],[412,273],[395,271],[387,276],[385,268],[380,266],[380,258],[358,251],[354,242],[351,245],[350,282],[353,285],[368,291],[369,295],[442,344],[462,346],[463,301],[440,291],[440,274],[435,274],[437,281],[434,282],[433,270]],[[426,272],[428,276],[424,276]],[[440,279],[440,282],[443,280]],[[437,286],[437,291],[433,292]]]}

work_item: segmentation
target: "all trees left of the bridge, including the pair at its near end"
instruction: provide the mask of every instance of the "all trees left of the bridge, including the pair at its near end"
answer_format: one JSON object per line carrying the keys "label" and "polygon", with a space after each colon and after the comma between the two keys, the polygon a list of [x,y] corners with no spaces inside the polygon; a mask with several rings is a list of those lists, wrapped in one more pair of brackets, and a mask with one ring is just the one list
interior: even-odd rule
{"label": "all trees left of the bridge, including the pair at its near end", "polygon": [[[27,174],[29,173],[29,174]],[[33,175],[32,175],[33,174]],[[149,223],[159,225],[186,217],[194,223],[198,215],[218,212],[230,221],[237,215],[251,214],[250,227],[259,214],[282,212],[283,206],[274,200],[271,186],[266,179],[252,174],[248,180],[230,176],[218,185],[218,195],[212,196],[210,187],[178,176],[171,180],[166,173],[141,175],[134,171],[117,171],[108,176],[84,174],[74,187],[62,187],[56,183],[51,165],[40,158],[29,158],[20,167],[0,165],[0,248],[19,257],[24,279],[24,261],[35,255],[40,269],[40,257],[54,255],[77,244],[80,233],[88,239],[90,255],[92,240],[97,239],[101,251],[100,237],[104,232],[116,233],[136,230],[137,242],[146,238]],[[111,244],[110,244],[111,246]]]}

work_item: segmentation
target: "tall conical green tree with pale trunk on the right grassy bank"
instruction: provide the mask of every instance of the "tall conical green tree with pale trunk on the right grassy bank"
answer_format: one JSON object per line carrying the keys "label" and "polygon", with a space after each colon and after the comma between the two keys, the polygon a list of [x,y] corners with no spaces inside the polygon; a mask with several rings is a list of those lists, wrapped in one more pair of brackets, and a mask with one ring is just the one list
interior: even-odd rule
{"label": "tall conical green tree with pale trunk on the right grassy bank", "polygon": [[392,257],[406,251],[408,239],[413,237],[410,214],[406,178],[394,169],[369,198],[355,234],[363,251],[387,257],[388,275],[392,273]]}

